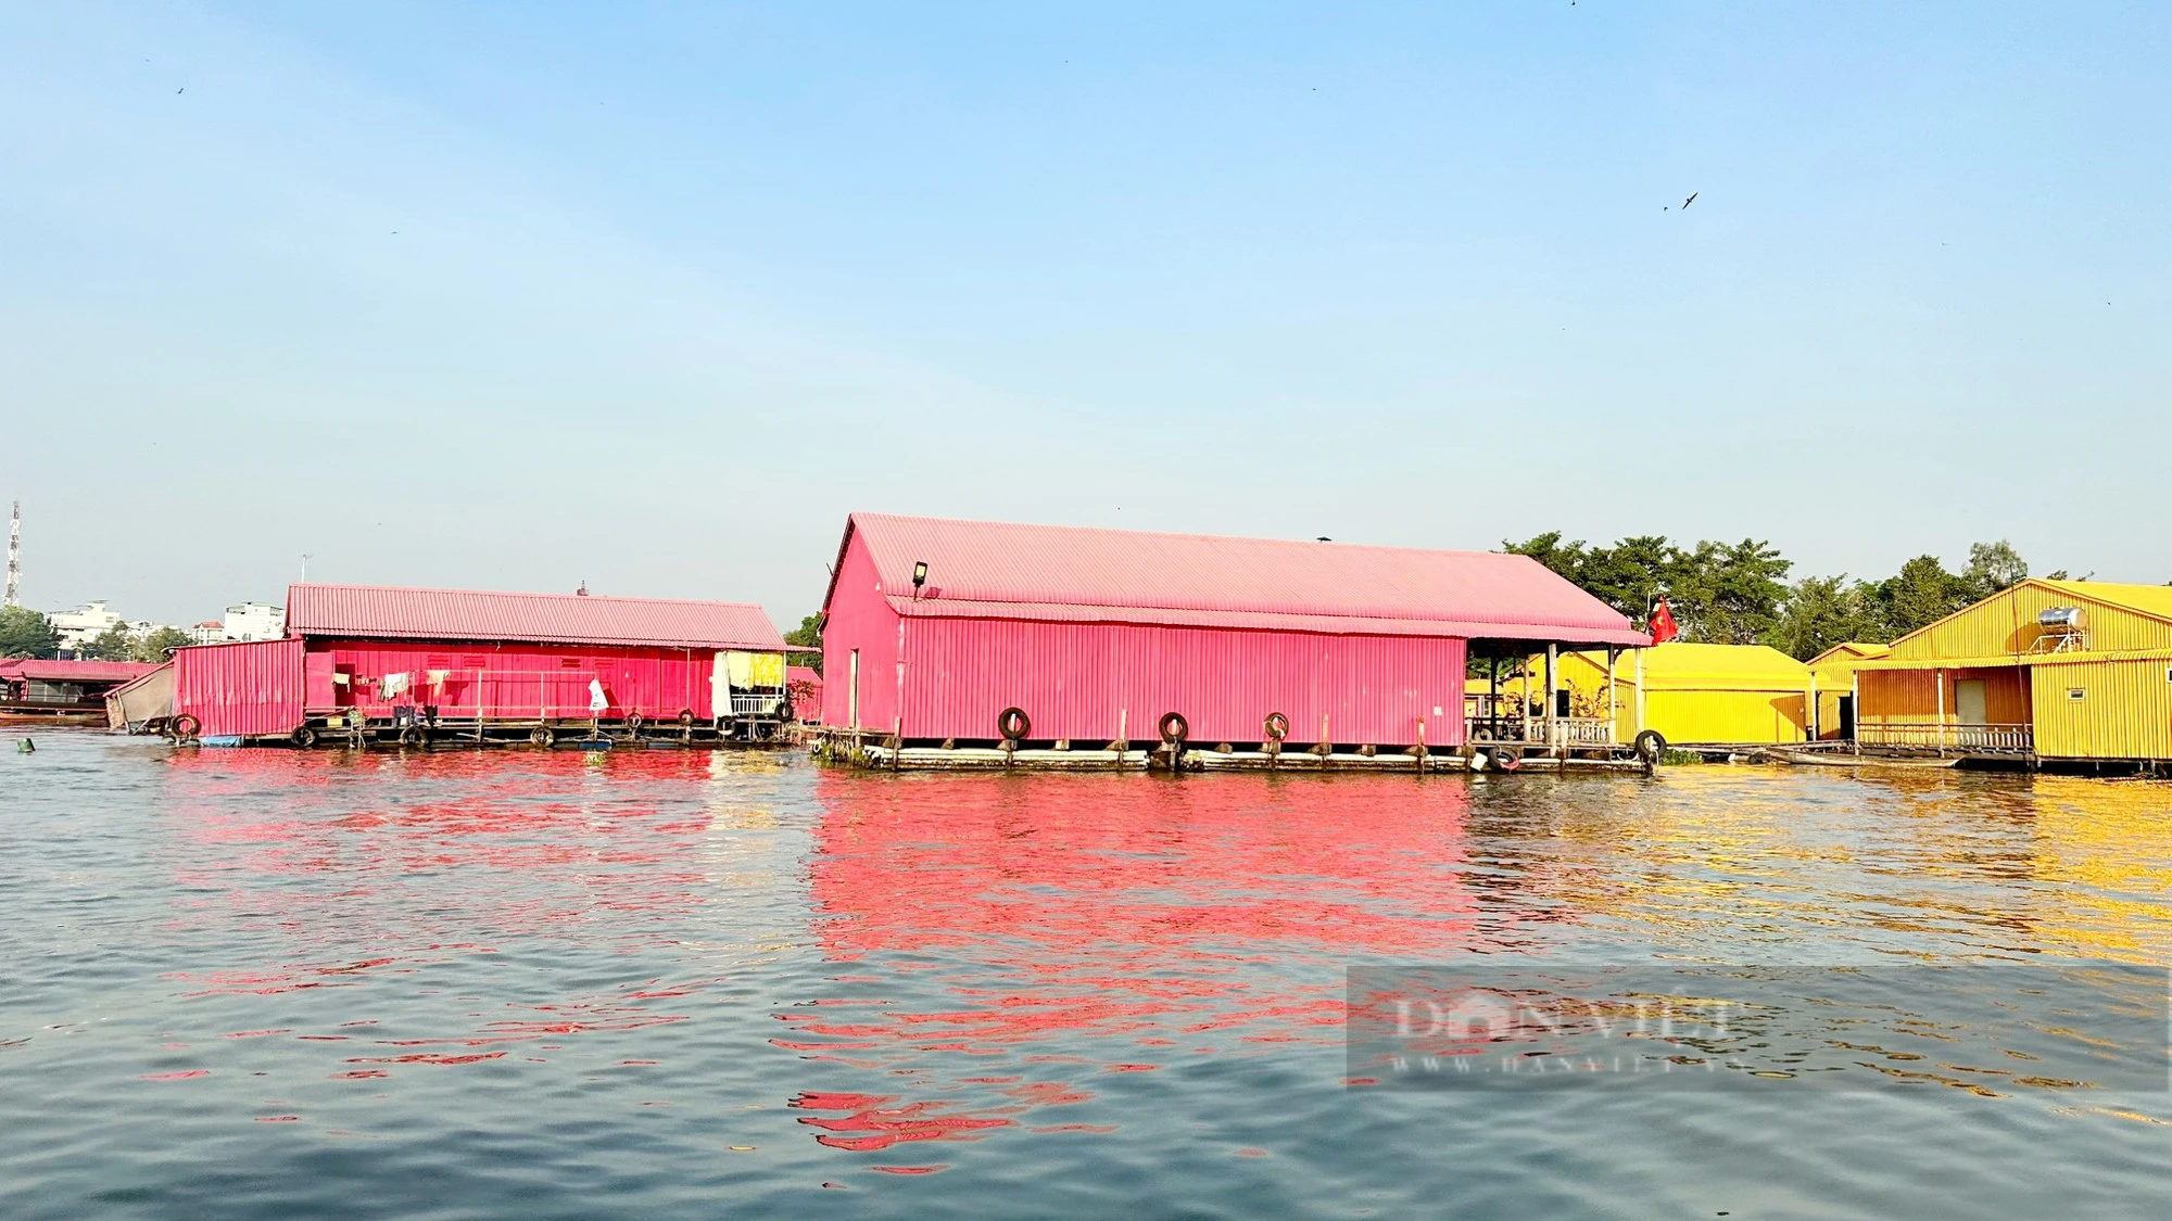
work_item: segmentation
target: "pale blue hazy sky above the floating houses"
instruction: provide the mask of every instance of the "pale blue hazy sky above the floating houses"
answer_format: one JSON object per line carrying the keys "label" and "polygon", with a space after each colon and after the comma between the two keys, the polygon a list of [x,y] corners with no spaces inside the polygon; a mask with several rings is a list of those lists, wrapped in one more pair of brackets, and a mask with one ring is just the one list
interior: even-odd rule
{"label": "pale blue hazy sky above the floating houses", "polygon": [[0,0],[0,502],[26,602],[169,621],[308,552],[791,626],[854,508],[2161,582],[2168,63],[2155,2]]}

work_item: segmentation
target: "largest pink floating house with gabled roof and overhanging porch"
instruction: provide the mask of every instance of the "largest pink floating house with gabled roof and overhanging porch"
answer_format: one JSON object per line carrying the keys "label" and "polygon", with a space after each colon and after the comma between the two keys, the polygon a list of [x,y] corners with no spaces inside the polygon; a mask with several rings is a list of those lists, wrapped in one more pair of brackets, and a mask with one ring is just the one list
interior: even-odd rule
{"label": "largest pink floating house with gabled roof and overhanging porch", "polygon": [[904,745],[1457,747],[1473,654],[1651,643],[1525,556],[875,513],[823,615],[823,723]]}

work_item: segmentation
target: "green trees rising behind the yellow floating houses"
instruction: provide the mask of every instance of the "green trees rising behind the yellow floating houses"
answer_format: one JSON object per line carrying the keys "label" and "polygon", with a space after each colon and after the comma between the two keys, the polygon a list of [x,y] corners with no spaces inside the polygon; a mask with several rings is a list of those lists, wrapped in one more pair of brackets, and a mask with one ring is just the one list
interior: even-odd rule
{"label": "green trees rising behind the yellow floating houses", "polygon": [[[1503,539],[1501,550],[1531,556],[1638,626],[1653,600],[1666,597],[1683,641],[1772,645],[1801,660],[1842,641],[1896,641],[2029,576],[2005,539],[1968,547],[1959,571],[1916,556],[1883,580],[1840,574],[1794,582],[1794,563],[1759,539],[1683,547],[1640,534],[1605,547],[1549,530],[1520,543]],[[2066,580],[2063,569],[2046,576]]]}

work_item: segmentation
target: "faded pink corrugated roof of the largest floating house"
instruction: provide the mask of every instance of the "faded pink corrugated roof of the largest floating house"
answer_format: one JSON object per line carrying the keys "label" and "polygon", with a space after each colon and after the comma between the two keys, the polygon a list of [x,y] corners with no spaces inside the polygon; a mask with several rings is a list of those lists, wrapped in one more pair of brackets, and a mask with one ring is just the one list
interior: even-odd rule
{"label": "faded pink corrugated roof of the largest floating house", "polygon": [[[901,615],[1649,643],[1529,556],[854,513]],[[843,547],[841,547],[843,554]],[[914,595],[912,565],[927,565]]]}

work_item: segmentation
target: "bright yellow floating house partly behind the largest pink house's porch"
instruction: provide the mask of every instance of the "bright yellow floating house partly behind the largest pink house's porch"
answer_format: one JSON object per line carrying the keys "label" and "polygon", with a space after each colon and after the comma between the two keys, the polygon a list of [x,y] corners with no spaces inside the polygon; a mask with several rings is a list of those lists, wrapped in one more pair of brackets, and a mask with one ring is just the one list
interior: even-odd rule
{"label": "bright yellow floating house partly behind the largest pink house's porch", "polygon": [[[1544,674],[1544,656],[1529,663],[1536,674]],[[1562,654],[1555,669],[1555,691],[1566,695],[1564,715],[1612,715],[1616,741],[1633,741],[1642,730],[1657,730],[1670,745],[1809,739],[1809,667],[1768,645],[1670,641],[1625,650],[1614,660],[1612,697],[1603,652]],[[1520,687],[1503,680],[1503,695],[1512,691]]]}

